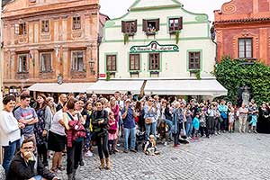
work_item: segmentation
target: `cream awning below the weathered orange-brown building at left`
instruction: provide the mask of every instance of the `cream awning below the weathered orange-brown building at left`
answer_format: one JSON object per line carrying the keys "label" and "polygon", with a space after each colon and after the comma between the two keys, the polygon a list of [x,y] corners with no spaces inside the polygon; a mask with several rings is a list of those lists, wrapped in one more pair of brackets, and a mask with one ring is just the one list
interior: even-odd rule
{"label": "cream awning below the weathered orange-brown building at left", "polygon": [[46,93],[85,93],[86,89],[94,85],[94,83],[36,83],[28,89],[30,91],[46,92]]}

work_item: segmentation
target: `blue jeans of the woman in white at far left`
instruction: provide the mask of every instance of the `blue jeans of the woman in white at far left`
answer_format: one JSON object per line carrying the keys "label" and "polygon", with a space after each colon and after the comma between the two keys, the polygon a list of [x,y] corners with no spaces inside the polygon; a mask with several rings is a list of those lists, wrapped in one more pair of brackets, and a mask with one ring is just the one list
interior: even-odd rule
{"label": "blue jeans of the woman in white at far left", "polygon": [[9,142],[9,146],[5,146],[4,148],[4,159],[3,159],[3,167],[5,171],[5,175],[7,175],[9,166],[12,162],[12,159],[14,157],[16,148],[20,143],[20,139],[15,140],[14,142]]}

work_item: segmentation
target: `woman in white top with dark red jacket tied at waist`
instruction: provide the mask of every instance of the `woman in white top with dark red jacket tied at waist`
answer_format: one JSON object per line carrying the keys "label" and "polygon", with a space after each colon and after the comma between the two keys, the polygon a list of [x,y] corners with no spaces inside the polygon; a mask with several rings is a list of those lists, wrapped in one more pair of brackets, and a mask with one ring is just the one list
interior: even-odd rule
{"label": "woman in white top with dark red jacket tied at waist", "polygon": [[72,98],[67,102],[67,111],[63,112],[64,123],[67,134],[67,178],[76,179],[76,169],[81,160],[83,140],[85,138],[85,119],[77,111],[79,102]]}

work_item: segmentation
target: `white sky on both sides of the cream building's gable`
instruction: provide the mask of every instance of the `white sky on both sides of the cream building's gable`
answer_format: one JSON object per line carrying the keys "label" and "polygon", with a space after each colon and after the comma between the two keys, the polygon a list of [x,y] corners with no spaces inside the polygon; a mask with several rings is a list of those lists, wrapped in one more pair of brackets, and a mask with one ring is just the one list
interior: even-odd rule
{"label": "white sky on both sides of the cream building's gable", "polygon": [[[223,3],[230,0],[178,0],[184,4],[184,9],[198,14],[208,14],[209,20],[214,20],[213,11],[221,9]],[[100,0],[101,13],[109,15],[109,17],[117,18],[126,14],[130,5],[135,0]]]}

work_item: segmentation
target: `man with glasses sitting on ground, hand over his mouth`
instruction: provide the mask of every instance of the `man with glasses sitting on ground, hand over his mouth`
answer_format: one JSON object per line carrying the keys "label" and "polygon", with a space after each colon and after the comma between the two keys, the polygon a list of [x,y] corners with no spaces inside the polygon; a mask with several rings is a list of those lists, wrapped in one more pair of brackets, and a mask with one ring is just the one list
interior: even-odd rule
{"label": "man with glasses sitting on ground, hand over his mouth", "polygon": [[40,158],[34,155],[32,139],[23,140],[20,151],[15,155],[6,179],[12,180],[58,180],[59,178],[46,169]]}

